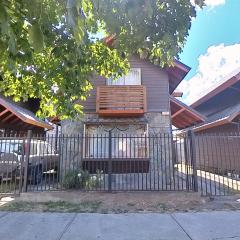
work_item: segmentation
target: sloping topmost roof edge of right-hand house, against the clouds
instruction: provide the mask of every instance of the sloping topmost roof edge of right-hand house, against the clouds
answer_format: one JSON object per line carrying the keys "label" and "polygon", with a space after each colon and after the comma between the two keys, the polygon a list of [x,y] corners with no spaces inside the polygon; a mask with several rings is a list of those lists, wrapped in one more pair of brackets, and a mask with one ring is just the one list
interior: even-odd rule
{"label": "sloping topmost roof edge of right-hand house, against the clouds", "polygon": [[235,83],[240,81],[240,68],[235,69],[232,73],[221,79],[221,82],[216,83],[204,96],[194,102],[191,107],[197,108],[199,105],[207,102],[217,94],[223,92]]}

